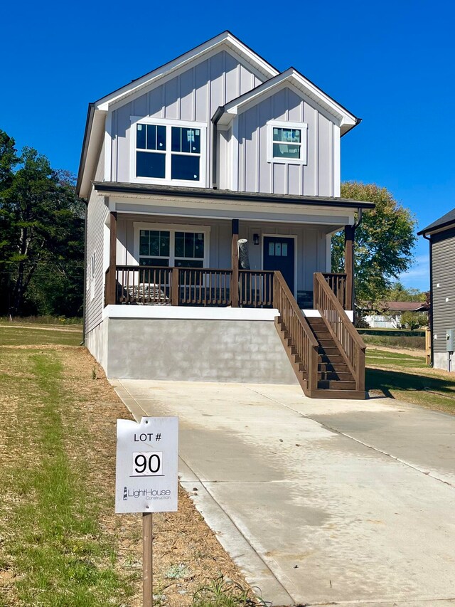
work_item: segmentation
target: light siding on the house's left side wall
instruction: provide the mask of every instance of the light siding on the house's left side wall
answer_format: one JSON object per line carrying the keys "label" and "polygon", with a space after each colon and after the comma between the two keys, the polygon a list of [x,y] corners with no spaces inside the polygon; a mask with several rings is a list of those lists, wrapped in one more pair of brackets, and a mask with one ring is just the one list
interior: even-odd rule
{"label": "light siding on the house's left side wall", "polygon": [[[103,144],[100,159],[98,160],[95,180],[102,180],[105,170],[105,146]],[[87,292],[85,305],[86,332],[100,324],[102,321],[102,310],[104,307],[104,231],[105,221],[109,213],[105,205],[105,197],[98,196],[92,190],[87,208]],[[90,280],[91,260],[95,253],[95,289],[92,297],[92,285]]]}

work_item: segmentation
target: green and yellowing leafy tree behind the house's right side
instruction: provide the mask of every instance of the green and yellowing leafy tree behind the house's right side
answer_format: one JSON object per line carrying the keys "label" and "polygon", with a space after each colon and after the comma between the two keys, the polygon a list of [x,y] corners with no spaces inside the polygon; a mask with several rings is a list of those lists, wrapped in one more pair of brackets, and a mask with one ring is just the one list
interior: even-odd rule
{"label": "green and yellowing leafy tree behind the house's right side", "polygon": [[[413,260],[416,221],[392,194],[375,184],[341,184],[343,198],[375,203],[355,230],[355,297],[360,306],[384,300],[392,279]],[[332,271],[344,270],[344,234],[332,237]]]}

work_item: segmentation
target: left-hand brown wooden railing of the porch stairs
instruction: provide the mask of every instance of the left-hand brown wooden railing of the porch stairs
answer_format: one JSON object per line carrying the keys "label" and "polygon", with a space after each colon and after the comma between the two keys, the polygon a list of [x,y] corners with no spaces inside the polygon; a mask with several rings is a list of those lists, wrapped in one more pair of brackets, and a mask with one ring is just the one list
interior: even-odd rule
{"label": "left-hand brown wooden railing of the porch stairs", "polygon": [[291,346],[295,348],[304,367],[309,391],[316,390],[318,387],[319,343],[279,270],[274,272],[273,278],[273,307],[278,310],[289,333]]}

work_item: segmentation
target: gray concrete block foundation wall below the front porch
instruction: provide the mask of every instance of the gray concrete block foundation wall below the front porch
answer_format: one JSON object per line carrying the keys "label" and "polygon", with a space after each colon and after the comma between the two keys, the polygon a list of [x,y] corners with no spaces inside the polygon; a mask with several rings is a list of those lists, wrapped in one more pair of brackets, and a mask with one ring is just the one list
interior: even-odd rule
{"label": "gray concrete block foundation wall below the front porch", "polygon": [[[270,320],[107,318],[103,324],[109,337],[101,364],[109,378],[297,383]],[[101,341],[94,336],[90,343],[95,357]]]}

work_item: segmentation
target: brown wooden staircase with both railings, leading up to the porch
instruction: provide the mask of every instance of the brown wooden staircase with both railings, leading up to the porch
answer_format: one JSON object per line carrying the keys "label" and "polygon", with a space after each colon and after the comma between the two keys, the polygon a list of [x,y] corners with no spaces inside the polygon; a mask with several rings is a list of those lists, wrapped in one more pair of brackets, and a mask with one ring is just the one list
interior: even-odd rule
{"label": "brown wooden staircase with both railings, leading up to the porch", "polygon": [[304,394],[365,398],[365,344],[323,275],[315,278],[321,316],[305,317],[281,273],[275,274],[274,307],[280,312],[275,327]]}

